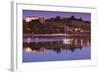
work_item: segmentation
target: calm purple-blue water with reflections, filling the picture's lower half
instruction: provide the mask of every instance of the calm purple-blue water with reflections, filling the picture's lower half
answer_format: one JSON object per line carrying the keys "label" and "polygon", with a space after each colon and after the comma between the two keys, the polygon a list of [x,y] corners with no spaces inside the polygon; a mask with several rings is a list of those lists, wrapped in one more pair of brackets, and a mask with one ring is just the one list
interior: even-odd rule
{"label": "calm purple-blue water with reflections, filling the picture's lower half", "polygon": [[89,38],[24,38],[23,62],[91,59]]}

